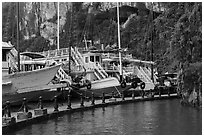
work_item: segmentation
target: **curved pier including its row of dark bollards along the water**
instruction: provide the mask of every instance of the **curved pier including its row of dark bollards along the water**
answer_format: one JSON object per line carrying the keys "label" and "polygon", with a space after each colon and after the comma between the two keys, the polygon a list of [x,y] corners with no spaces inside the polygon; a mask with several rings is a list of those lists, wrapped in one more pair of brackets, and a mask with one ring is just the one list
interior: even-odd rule
{"label": "curved pier including its row of dark bollards along the water", "polygon": [[[134,92],[133,92],[134,93]],[[26,99],[23,100],[22,111],[21,112],[11,112],[9,108],[9,102],[7,102],[7,111],[5,116],[2,117],[2,133],[9,134],[10,131],[22,129],[28,125],[38,123],[43,120],[49,120],[58,116],[62,116],[67,113],[73,113],[77,111],[86,111],[95,108],[103,108],[111,105],[119,105],[124,103],[133,103],[139,101],[153,101],[162,99],[174,99],[178,98],[177,94],[165,94],[165,95],[154,95],[154,96],[139,96],[121,98],[110,98],[105,99],[105,94],[103,94],[102,99],[95,99],[94,94],[89,101],[85,101],[83,95],[79,102],[71,102],[70,95],[66,103],[59,105],[57,98],[54,99],[53,106],[47,108],[43,107],[42,98],[39,98],[38,108],[29,110],[26,106]]]}

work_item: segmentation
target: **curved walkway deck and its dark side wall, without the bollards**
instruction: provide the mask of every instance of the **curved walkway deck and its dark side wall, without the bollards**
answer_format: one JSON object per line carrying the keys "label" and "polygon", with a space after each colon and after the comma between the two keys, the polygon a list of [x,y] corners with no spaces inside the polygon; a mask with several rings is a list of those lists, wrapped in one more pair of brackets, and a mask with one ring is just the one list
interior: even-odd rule
{"label": "curved walkway deck and its dark side wall, without the bollards", "polygon": [[34,115],[34,109],[33,110],[28,110],[29,112],[32,113],[32,118],[24,119],[24,120],[19,120],[17,119],[17,112],[11,112],[11,117],[16,118],[16,123],[13,124],[2,124],[2,133],[3,134],[8,134],[9,131],[12,131],[14,129],[22,129],[23,127],[26,127],[27,125],[31,124],[36,124],[42,120],[48,120],[51,118],[58,117],[60,115],[64,115],[67,113],[72,113],[76,111],[85,111],[85,110],[90,110],[94,108],[99,108],[99,107],[107,107],[110,105],[119,105],[119,104],[124,104],[124,103],[131,103],[131,102],[138,102],[138,101],[150,101],[150,100],[162,100],[162,99],[173,99],[173,98],[178,98],[177,94],[170,94],[168,95],[154,95],[154,97],[135,97],[134,99],[132,97],[126,97],[125,100],[122,100],[122,98],[116,98],[116,101],[111,100],[111,99],[105,99],[105,103],[102,103],[102,100],[95,100],[95,105],[91,105],[91,100],[89,102],[84,101],[84,107],[81,107],[81,102],[74,102],[71,103],[72,109],[67,109],[67,103],[64,103],[63,105],[59,105],[57,112],[54,112],[54,106],[49,106],[47,107],[47,114],[45,115]]}

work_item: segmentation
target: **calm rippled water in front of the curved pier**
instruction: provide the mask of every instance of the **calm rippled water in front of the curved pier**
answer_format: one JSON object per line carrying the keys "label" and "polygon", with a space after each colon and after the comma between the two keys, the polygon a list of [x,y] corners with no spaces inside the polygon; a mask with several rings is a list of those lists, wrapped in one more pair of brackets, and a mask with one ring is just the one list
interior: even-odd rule
{"label": "calm rippled water in front of the curved pier", "polygon": [[67,114],[12,134],[202,134],[202,112],[178,99],[136,102]]}

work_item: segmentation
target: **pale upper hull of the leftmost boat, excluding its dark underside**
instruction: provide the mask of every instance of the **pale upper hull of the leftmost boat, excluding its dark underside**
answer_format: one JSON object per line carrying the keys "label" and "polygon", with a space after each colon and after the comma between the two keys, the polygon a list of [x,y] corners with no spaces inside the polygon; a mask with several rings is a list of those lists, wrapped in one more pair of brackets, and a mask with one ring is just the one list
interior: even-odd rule
{"label": "pale upper hull of the leftmost boat, excluding its dark underside", "polygon": [[[39,70],[5,75],[2,77],[2,94],[23,93],[21,92],[23,89],[47,85],[59,68],[60,65],[56,65]],[[8,82],[11,82],[11,84],[5,84]],[[8,86],[11,86],[10,89],[12,90],[7,90]]]}

